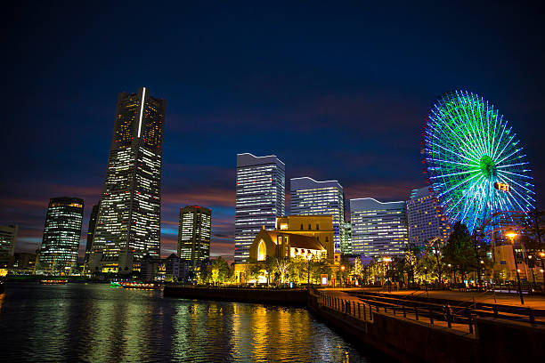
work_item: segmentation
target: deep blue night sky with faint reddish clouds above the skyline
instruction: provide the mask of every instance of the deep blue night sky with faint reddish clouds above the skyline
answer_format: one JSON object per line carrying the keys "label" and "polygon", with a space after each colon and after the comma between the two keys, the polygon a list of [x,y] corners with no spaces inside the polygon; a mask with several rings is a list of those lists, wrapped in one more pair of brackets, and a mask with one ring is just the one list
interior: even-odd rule
{"label": "deep blue night sky with faint reddish clouds above the skyline", "polygon": [[408,198],[426,185],[427,109],[452,89],[508,119],[545,207],[543,5],[12,3],[0,224],[20,225],[18,252],[37,249],[59,196],[85,200],[85,250],[118,93],[142,86],[167,100],[163,255],[187,204],[212,208],[211,253],[232,255],[237,153],[280,157],[288,191],[311,176],[337,179],[346,198]]}

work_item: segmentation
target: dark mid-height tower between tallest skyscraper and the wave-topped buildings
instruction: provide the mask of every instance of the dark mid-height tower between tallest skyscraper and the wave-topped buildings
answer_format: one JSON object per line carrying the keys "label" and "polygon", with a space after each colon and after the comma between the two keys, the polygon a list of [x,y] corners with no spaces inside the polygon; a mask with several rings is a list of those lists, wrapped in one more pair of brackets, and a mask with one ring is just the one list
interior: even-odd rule
{"label": "dark mid-height tower between tallest skyscraper and the wave-topped buildings", "polygon": [[180,208],[178,256],[191,261],[191,266],[210,257],[210,222],[212,211],[203,206]]}

